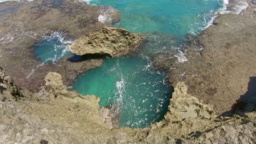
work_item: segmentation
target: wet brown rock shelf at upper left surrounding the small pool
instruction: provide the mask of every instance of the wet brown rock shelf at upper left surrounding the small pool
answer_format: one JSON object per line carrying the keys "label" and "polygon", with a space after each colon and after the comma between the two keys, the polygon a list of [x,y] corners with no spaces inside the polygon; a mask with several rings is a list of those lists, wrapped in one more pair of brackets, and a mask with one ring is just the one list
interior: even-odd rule
{"label": "wet brown rock shelf at upper left surrounding the small pool", "polygon": [[[65,40],[109,26],[112,21],[99,22],[104,11],[109,20],[119,22],[120,13],[112,7],[91,6],[75,0],[35,0],[32,2],[0,3],[0,65],[12,79],[31,92],[38,92],[44,77],[50,71],[62,74],[65,85],[79,73],[99,67],[100,57],[71,61],[72,56],[61,58],[55,64],[43,63],[34,55],[33,46],[45,35],[65,33]],[[108,14],[108,11],[111,13]]]}

